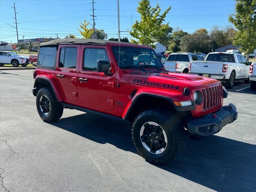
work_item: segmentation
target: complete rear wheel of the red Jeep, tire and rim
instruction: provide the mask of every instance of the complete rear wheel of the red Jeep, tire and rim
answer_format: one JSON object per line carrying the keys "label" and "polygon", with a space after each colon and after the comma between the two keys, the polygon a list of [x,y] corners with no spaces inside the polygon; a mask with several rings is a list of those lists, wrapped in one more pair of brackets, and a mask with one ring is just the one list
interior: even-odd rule
{"label": "complete rear wheel of the red Jeep, tire and rim", "polygon": [[63,113],[63,106],[57,101],[52,89],[48,87],[38,90],[36,108],[40,118],[46,122],[59,120]]}

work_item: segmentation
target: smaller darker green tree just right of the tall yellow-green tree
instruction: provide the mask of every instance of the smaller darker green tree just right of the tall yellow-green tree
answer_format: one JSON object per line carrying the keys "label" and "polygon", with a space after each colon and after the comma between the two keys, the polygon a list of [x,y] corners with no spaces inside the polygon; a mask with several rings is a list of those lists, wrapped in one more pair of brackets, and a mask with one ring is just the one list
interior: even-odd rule
{"label": "smaller darker green tree just right of the tall yellow-green tree", "polygon": [[169,24],[161,24],[162,30],[155,38],[155,42],[160,42],[164,46],[168,46],[169,41],[172,39],[172,27]]}

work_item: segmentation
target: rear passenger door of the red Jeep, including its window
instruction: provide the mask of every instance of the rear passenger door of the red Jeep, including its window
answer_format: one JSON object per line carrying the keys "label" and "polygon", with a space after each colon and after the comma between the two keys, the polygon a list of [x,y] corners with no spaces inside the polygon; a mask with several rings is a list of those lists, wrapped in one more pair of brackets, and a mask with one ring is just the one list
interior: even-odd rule
{"label": "rear passenger door of the red Jeep, including its window", "polygon": [[78,55],[80,45],[60,45],[56,62],[56,79],[64,100],[76,102],[78,97]]}

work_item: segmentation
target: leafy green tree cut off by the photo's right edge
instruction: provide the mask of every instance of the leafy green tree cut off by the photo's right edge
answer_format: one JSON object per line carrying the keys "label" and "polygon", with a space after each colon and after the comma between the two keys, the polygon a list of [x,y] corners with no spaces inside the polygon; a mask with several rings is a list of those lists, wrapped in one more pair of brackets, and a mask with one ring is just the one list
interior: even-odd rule
{"label": "leafy green tree cut off by the photo's right edge", "polygon": [[236,0],[235,14],[228,17],[238,32],[233,44],[242,46],[241,52],[248,54],[256,49],[256,0]]}

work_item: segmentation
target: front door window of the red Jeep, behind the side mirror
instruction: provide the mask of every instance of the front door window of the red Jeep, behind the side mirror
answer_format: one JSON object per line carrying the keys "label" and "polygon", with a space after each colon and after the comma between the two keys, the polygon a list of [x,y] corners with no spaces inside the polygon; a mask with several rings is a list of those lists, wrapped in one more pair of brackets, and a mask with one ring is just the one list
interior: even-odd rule
{"label": "front door window of the red Jeep, behind the side mirror", "polygon": [[86,48],[84,50],[84,70],[97,71],[98,61],[108,61],[108,55],[105,49]]}

